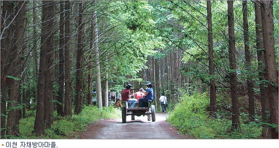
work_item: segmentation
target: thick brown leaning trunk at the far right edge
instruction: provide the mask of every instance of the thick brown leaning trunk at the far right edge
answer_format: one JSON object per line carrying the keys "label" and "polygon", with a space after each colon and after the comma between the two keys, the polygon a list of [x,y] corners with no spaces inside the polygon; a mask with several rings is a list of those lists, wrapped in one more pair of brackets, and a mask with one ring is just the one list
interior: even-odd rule
{"label": "thick brown leaning trunk at the far right edge", "polygon": [[269,82],[268,100],[270,121],[276,125],[271,127],[271,138],[278,139],[278,73],[274,49],[273,2],[261,1],[262,33],[264,46],[264,59],[266,65],[266,78]]}

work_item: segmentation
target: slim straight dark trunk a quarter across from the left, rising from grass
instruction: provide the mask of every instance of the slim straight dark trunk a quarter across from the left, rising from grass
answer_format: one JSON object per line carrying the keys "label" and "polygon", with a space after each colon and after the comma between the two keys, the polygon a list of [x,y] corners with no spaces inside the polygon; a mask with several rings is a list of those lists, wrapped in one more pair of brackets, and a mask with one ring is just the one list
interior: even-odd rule
{"label": "slim straight dark trunk a quarter across from the left, rising from grass", "polygon": [[70,57],[70,2],[65,1],[65,104],[64,116],[72,116],[72,98],[71,98],[71,57]]}

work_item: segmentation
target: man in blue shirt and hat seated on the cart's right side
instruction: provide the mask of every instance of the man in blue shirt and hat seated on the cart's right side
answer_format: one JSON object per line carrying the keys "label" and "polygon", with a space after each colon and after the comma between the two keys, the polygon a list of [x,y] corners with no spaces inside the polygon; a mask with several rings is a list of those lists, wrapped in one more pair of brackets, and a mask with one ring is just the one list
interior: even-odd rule
{"label": "man in blue shirt and hat seated on the cart's right side", "polygon": [[145,97],[140,98],[138,105],[140,107],[147,107],[148,100],[153,100],[153,89],[152,89],[152,83],[150,81],[147,81],[146,84],[147,90],[145,92]]}

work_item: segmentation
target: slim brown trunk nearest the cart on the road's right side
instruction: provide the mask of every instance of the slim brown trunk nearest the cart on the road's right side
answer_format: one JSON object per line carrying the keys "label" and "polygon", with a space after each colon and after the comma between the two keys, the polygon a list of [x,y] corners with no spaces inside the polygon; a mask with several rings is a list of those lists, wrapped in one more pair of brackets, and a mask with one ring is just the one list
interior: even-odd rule
{"label": "slim brown trunk nearest the cart on the road's right side", "polygon": [[211,1],[206,1],[207,8],[207,28],[208,28],[208,61],[210,71],[210,116],[212,117],[217,112],[216,106],[216,86],[212,77],[214,77],[214,52],[213,52],[213,34],[212,34],[212,13]]}

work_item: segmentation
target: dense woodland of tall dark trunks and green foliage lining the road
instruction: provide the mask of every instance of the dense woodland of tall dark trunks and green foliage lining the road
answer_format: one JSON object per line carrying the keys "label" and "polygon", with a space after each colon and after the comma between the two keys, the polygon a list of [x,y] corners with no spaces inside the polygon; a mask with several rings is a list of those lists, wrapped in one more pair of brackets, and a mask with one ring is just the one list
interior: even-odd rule
{"label": "dense woodland of tall dark trunks and green foliage lining the road", "polygon": [[[260,121],[278,138],[278,1],[1,1],[1,135],[33,132],[58,116],[109,106],[109,91],[153,83],[157,109],[184,93]],[[113,83],[110,83],[113,82]],[[227,99],[230,104],[218,101]],[[219,117],[220,118],[220,117]]]}

